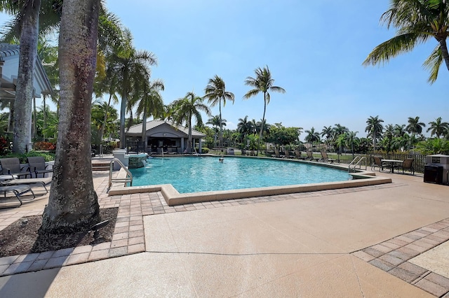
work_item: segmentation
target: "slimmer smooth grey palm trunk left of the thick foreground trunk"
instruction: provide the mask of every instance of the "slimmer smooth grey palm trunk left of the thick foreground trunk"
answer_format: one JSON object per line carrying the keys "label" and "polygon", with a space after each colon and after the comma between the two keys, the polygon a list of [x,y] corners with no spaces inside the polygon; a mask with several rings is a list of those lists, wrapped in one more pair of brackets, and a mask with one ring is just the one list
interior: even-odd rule
{"label": "slimmer smooth grey palm trunk left of the thick foreground trunk", "polygon": [[20,27],[20,51],[14,102],[13,152],[27,152],[31,141],[33,72],[36,64],[41,0],[27,1]]}

